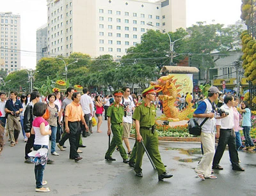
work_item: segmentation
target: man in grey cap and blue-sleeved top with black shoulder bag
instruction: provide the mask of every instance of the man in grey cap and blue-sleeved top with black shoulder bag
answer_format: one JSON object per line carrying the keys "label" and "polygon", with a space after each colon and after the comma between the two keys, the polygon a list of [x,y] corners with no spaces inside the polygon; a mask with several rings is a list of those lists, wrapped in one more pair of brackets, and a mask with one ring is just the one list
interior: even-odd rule
{"label": "man in grey cap and blue-sleeved top with black shoulder bag", "polygon": [[[215,147],[215,126],[216,126],[216,107],[214,101],[218,99],[221,92],[215,86],[208,90],[208,98],[198,105],[193,117],[196,117],[198,124],[202,124],[202,132],[200,139],[204,150],[204,155],[200,163],[198,163],[195,172],[202,180],[205,178],[216,179],[216,176],[211,174],[212,158],[214,156]],[[206,121],[205,121],[206,119]]]}

